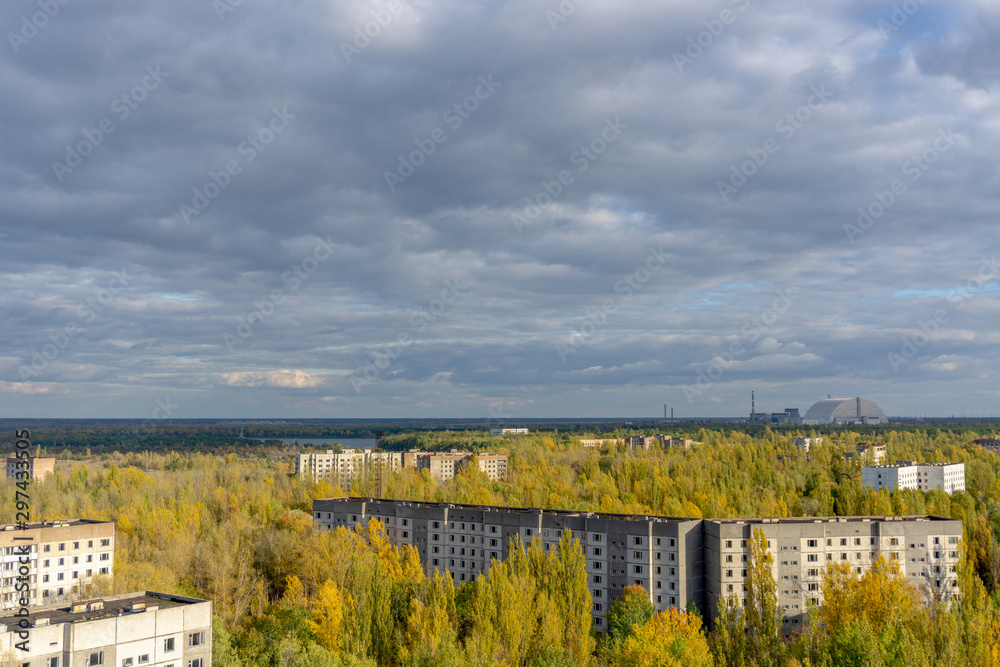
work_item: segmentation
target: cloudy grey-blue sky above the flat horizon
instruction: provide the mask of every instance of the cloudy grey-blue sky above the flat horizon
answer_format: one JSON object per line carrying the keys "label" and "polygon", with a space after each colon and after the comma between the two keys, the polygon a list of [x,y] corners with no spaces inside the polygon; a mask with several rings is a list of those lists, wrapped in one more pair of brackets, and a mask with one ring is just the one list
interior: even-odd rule
{"label": "cloudy grey-blue sky above the flat horizon", "polygon": [[0,417],[996,415],[987,0],[9,0]]}

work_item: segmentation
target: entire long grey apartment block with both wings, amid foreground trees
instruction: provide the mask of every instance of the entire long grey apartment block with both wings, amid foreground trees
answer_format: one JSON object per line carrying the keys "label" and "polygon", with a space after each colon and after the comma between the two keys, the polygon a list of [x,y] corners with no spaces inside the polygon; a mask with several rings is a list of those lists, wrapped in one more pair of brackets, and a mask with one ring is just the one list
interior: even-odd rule
{"label": "entire long grey apartment block with both wings, amid foreground trees", "polygon": [[705,618],[722,594],[744,595],[752,530],[761,528],[774,556],[778,604],[786,629],[802,622],[809,600],[821,602],[826,563],[847,560],[860,571],[882,553],[901,561],[907,579],[941,595],[957,592],[955,565],[961,521],[926,516],[793,519],[687,519],[601,512],[524,509],[368,498],[313,501],[313,518],[327,529],[378,519],[396,546],[411,545],[425,572],[451,573],[456,584],[507,557],[514,535],[555,548],[562,531],[580,540],[587,561],[598,630],[622,589],[641,584],[658,611],[689,600]]}

